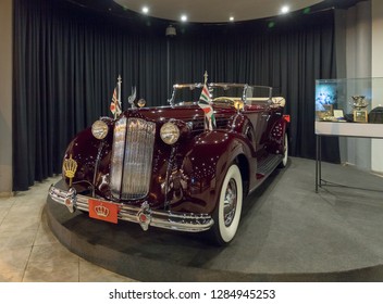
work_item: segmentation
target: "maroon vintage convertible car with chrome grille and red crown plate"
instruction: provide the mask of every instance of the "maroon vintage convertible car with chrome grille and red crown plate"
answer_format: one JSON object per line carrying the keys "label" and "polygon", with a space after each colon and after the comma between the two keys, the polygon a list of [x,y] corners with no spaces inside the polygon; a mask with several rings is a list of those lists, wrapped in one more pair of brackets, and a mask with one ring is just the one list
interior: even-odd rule
{"label": "maroon vintage convertible car with chrome grille and red crown plate", "polygon": [[48,199],[95,219],[231,242],[244,198],[286,166],[285,99],[270,87],[205,83],[173,86],[169,105],[129,102],[75,136]]}

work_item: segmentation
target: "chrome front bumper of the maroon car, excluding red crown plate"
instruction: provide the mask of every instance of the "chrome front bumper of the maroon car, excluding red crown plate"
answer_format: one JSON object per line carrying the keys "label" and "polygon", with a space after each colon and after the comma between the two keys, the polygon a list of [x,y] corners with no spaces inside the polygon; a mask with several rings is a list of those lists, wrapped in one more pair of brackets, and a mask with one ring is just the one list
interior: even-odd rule
{"label": "chrome front bumper of the maroon car, excluding red crown plate", "polygon": [[[71,213],[75,210],[89,212],[88,199],[91,198],[77,194],[74,188],[66,191],[52,185],[48,193],[54,202],[65,205]],[[118,205],[119,220],[137,223],[144,230],[148,230],[149,226],[153,226],[170,230],[200,232],[208,230],[214,224],[214,220],[208,214],[152,211],[147,202],[144,202],[140,207],[110,201],[108,201],[108,203]]]}

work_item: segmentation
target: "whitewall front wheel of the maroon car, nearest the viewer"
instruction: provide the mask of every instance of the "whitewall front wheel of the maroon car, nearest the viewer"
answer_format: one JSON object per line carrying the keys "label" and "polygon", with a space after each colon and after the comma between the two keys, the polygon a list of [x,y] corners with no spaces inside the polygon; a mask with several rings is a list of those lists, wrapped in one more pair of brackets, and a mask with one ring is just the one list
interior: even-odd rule
{"label": "whitewall front wheel of the maroon car, nearest the viewer", "polygon": [[243,182],[239,168],[232,164],[223,180],[215,207],[211,228],[214,241],[220,244],[230,243],[237,231],[243,204]]}

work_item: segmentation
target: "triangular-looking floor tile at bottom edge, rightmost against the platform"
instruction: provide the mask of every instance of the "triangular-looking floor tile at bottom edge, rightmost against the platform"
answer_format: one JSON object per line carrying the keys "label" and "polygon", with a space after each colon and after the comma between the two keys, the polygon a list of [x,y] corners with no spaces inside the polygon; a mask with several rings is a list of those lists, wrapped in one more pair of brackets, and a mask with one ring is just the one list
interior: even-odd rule
{"label": "triangular-looking floor tile at bottom edge, rightmost against the platform", "polygon": [[120,276],[83,258],[79,259],[81,282],[134,282],[135,280]]}

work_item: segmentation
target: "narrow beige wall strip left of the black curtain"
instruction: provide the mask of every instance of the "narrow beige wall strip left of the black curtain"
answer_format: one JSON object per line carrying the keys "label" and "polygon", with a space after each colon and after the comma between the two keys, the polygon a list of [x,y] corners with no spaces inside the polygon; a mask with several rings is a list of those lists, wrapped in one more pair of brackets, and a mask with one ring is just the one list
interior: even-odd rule
{"label": "narrow beige wall strip left of the black curtain", "polygon": [[0,1],[0,197],[12,192],[12,0]]}

